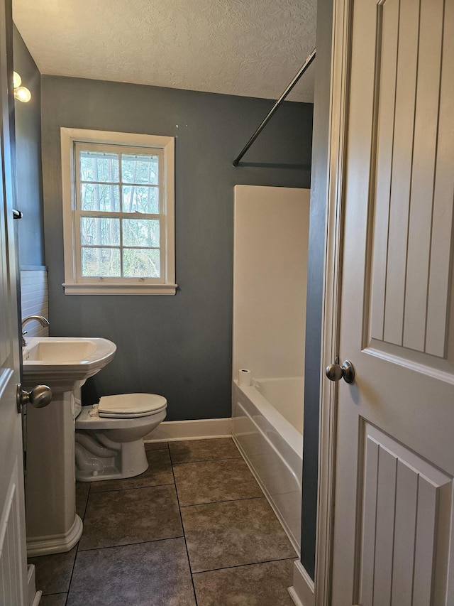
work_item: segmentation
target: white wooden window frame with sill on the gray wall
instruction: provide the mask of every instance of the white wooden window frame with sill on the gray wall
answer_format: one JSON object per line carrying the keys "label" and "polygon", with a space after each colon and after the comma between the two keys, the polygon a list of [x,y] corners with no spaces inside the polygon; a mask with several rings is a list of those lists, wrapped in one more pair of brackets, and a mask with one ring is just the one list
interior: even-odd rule
{"label": "white wooden window frame with sill on the gray wall", "polygon": [[[63,244],[65,251],[65,282],[67,295],[175,295],[175,138],[168,136],[60,129],[62,152]],[[161,277],[116,278],[82,277],[79,257],[79,215],[76,188],[79,171],[76,167],[76,144],[99,144],[143,148],[162,157],[160,163]]]}

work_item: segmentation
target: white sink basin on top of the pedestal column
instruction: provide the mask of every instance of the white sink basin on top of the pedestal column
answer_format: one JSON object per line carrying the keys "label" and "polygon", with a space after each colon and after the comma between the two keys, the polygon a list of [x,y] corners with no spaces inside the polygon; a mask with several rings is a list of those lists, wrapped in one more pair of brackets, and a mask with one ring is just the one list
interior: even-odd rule
{"label": "white sink basin on top of the pedestal column", "polygon": [[23,348],[23,377],[72,391],[109,364],[116,345],[97,337],[31,337]]}

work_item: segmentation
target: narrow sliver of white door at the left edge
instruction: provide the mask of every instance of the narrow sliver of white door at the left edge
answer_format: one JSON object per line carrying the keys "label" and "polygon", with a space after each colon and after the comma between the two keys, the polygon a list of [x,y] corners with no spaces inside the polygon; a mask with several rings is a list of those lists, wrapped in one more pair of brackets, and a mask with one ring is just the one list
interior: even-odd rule
{"label": "narrow sliver of white door at the left edge", "polygon": [[0,0],[0,605],[23,606],[27,566],[21,415],[16,408],[19,344],[9,139],[11,40],[7,40],[11,28],[11,3]]}

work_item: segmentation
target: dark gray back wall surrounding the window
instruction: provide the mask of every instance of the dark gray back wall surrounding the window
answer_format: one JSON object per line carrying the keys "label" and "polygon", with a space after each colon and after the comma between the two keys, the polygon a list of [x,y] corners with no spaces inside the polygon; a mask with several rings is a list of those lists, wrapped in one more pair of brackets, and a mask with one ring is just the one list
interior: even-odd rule
{"label": "dark gray back wall surrounding the window", "polygon": [[[51,334],[118,347],[84,403],[150,391],[167,397],[169,421],[230,416],[233,186],[309,187],[312,105],[283,104],[244,158],[306,168],[233,168],[269,100],[54,76],[41,87]],[[176,296],[65,296],[60,126],[177,137]]]}

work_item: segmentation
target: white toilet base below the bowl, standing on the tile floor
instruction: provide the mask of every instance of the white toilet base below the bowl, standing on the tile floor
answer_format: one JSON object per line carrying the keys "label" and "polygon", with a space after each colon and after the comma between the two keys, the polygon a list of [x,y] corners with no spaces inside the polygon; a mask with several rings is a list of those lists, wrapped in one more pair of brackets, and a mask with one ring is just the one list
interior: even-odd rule
{"label": "white toilet base below the bowl, standing on the tile floor", "polygon": [[[76,432],[77,482],[120,480],[140,475],[148,469],[142,438],[121,444],[111,443],[112,446],[114,448],[103,448],[92,436]],[[100,449],[104,450],[101,456],[98,453]]]}

